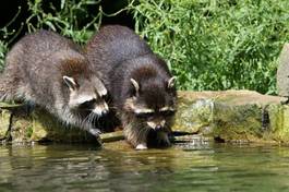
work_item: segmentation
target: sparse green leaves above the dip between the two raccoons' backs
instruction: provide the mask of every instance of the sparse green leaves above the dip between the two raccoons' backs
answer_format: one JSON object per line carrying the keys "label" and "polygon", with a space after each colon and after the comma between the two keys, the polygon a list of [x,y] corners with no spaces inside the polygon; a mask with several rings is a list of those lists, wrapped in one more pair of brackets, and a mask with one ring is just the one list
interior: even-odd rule
{"label": "sparse green leaves above the dip between the two raccoons' backs", "polygon": [[[44,10],[44,2],[43,0],[28,0],[28,9],[32,14],[26,20],[26,25],[29,33],[38,28],[50,28],[67,37],[71,37],[74,41],[85,43],[94,33],[94,29],[98,28],[101,23],[101,11],[97,12],[94,17],[88,15],[87,11],[89,7],[95,8],[95,5],[98,5],[100,0],[61,0],[58,4],[60,9],[57,9],[50,2],[48,4],[49,12]],[[80,23],[83,21],[87,23],[81,26]]]}

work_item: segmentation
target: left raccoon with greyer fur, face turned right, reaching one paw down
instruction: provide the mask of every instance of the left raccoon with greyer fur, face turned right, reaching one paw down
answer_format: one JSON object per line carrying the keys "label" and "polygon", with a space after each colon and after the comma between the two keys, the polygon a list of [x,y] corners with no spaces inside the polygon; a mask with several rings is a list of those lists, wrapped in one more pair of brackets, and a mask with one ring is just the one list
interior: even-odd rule
{"label": "left raccoon with greyer fur, face turned right, reaching one paw down", "polygon": [[107,89],[73,41],[49,31],[24,36],[8,52],[2,101],[32,103],[98,137],[96,118],[108,112]]}

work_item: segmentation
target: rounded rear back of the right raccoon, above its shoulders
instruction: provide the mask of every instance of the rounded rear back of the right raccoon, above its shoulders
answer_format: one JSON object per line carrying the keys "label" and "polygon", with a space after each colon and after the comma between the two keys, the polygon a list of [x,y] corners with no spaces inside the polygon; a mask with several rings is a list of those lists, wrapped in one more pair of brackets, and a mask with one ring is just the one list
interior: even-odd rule
{"label": "rounded rear back of the right raccoon, above its shoulders", "polygon": [[152,53],[152,50],[132,29],[121,25],[107,25],[87,43],[85,53],[95,70],[106,79],[121,62]]}

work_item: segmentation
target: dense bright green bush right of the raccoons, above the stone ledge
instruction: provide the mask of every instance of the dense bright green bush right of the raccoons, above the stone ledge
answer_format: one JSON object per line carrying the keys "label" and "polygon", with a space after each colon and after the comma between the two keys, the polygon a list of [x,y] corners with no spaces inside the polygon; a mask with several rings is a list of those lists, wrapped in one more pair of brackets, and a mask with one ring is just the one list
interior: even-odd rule
{"label": "dense bright green bush right of the raccoons, above the stone ledge", "polygon": [[276,93],[289,40],[287,0],[140,0],[136,31],[169,62],[182,89]]}

